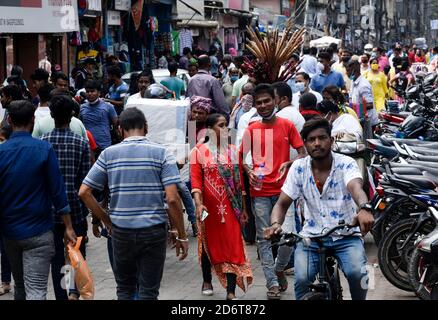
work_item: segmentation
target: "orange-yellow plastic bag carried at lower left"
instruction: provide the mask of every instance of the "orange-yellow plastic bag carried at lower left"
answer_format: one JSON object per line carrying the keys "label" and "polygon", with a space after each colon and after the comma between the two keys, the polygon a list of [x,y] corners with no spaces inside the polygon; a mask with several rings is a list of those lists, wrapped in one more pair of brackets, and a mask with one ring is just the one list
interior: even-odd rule
{"label": "orange-yellow plastic bag carried at lower left", "polygon": [[82,237],[78,237],[76,246],[67,245],[68,256],[70,264],[75,271],[75,284],[78,288],[79,294],[84,300],[94,299],[94,281],[91,276],[91,271],[88,268],[87,262],[82,256],[79,247],[81,246]]}

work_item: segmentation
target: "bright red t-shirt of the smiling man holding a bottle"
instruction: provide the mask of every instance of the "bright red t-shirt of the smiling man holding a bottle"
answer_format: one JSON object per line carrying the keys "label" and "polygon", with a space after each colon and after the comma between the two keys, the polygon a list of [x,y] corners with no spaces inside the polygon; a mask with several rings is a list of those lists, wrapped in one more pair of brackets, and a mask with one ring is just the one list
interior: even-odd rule
{"label": "bright red t-shirt of the smiling man holding a bottle", "polygon": [[265,164],[262,190],[256,191],[251,187],[251,197],[280,195],[286,175],[276,182],[280,176],[278,170],[283,163],[291,160],[291,146],[299,149],[304,144],[294,124],[289,120],[277,117],[275,122],[270,124],[256,121],[245,130],[240,147],[240,158],[251,151],[254,170],[257,170],[261,163]]}

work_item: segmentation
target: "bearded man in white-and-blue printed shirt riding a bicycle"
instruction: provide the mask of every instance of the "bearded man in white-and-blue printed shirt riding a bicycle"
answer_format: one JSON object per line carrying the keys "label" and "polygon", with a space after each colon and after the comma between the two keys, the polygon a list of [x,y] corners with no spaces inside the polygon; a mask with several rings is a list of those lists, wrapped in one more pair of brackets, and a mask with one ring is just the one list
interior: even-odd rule
{"label": "bearded man in white-and-blue printed shirt riding a bicycle", "polygon": [[[324,233],[345,220],[368,233],[374,218],[368,198],[362,189],[362,176],[354,159],[333,153],[331,126],[326,119],[308,121],[301,131],[309,156],[295,161],[282,187],[280,198],[271,214],[271,228],[266,238],[281,233],[287,209],[302,198],[305,202],[304,226],[301,235],[312,237]],[[357,209],[359,208],[359,210]],[[353,228],[348,234],[359,231]],[[368,275],[363,240],[360,236],[333,235],[324,240],[348,280],[353,300],[364,300]],[[303,242],[295,251],[295,296],[300,300],[309,291],[318,272],[318,245]]]}

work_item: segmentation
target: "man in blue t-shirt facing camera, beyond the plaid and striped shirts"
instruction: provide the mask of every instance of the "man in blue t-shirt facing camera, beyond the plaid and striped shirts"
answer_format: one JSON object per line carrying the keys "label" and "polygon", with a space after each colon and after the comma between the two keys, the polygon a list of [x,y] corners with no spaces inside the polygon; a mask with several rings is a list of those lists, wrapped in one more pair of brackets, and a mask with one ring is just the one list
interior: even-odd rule
{"label": "man in blue t-shirt facing camera, beyond the plaid and striped shirts", "polygon": [[111,125],[117,125],[117,113],[114,107],[99,99],[100,83],[89,81],[85,84],[87,102],[81,106],[80,120],[85,128],[91,132],[98,151],[96,158],[102,150],[111,145]]}

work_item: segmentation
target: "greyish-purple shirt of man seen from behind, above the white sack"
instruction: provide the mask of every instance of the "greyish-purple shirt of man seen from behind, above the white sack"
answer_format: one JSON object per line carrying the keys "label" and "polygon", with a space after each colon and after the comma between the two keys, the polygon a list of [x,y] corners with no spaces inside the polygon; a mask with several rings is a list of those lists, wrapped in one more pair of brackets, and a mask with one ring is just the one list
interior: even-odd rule
{"label": "greyish-purple shirt of man seen from behind, above the white sack", "polygon": [[193,76],[189,82],[187,94],[190,98],[193,96],[210,98],[213,102],[212,113],[218,112],[225,115],[228,119],[230,108],[225,101],[222,86],[219,80],[210,75],[207,71],[199,70],[199,72]]}

